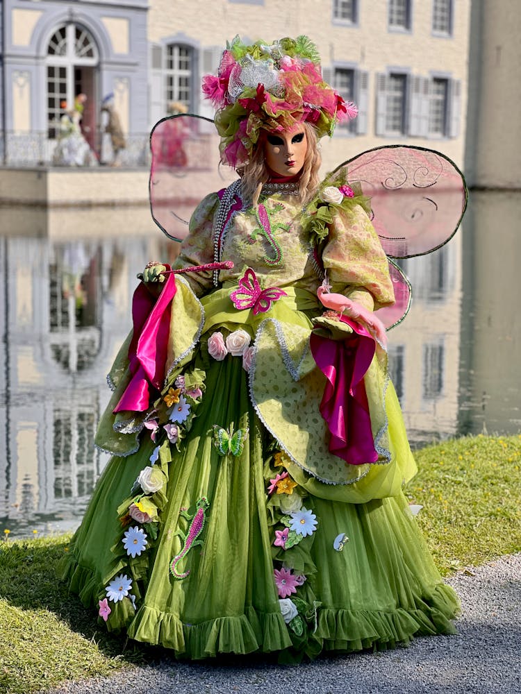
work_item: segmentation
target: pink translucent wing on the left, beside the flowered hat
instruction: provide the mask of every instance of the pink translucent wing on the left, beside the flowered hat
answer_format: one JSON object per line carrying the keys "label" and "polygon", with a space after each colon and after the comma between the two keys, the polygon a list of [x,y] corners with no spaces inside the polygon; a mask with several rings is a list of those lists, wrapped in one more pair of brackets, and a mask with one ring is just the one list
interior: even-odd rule
{"label": "pink translucent wing on the left, beside the flowered hat", "polygon": [[179,114],[163,118],[150,133],[149,197],[152,219],[174,241],[188,236],[197,204],[229,185],[235,172],[219,167],[219,138],[213,120]]}

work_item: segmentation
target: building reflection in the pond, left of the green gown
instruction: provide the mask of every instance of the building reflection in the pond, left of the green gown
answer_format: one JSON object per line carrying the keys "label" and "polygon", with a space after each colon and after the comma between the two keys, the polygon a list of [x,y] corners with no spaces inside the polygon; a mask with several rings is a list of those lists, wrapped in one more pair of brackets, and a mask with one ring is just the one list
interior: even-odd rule
{"label": "building reflection in the pond, left of the green gown", "polygon": [[131,325],[135,275],[144,258],[168,253],[159,234],[1,239],[0,529],[12,536],[81,518],[106,462],[92,439]]}

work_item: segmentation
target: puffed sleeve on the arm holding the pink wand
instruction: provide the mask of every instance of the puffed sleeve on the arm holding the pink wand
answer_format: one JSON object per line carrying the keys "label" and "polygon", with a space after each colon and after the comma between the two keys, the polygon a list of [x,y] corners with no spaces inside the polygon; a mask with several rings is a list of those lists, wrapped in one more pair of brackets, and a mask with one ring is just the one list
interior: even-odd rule
{"label": "puffed sleeve on the arm holding the pink wand", "polygon": [[[195,208],[190,218],[188,236],[181,244],[181,251],[174,263],[175,269],[213,262],[213,226],[219,209],[219,196],[210,193]],[[188,272],[183,275],[197,296],[205,294],[213,286],[212,271]]]}

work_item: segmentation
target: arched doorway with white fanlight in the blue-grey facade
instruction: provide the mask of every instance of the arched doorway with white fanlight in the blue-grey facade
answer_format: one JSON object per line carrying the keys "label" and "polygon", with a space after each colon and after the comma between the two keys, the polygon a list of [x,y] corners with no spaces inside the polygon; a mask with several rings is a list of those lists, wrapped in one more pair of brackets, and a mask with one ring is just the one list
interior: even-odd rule
{"label": "arched doorway with white fanlight in the blue-grey facade", "polygon": [[69,108],[78,94],[86,94],[81,128],[94,151],[97,142],[97,75],[99,51],[92,34],[80,24],[61,24],[47,46],[47,127],[49,139],[56,139],[63,104]]}

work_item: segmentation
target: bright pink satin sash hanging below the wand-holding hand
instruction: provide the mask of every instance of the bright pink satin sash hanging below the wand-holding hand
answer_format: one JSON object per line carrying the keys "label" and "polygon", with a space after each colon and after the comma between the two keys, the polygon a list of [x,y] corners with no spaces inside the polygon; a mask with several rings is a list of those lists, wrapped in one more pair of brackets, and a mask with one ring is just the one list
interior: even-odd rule
{"label": "bright pink satin sash hanging below the wand-holding hand", "polygon": [[[169,266],[167,266],[169,269]],[[160,391],[165,380],[170,306],[176,294],[175,275],[170,274],[156,298],[140,282],[132,299],[133,337],[129,347],[131,382],[113,413],[149,408],[151,393]]]}

